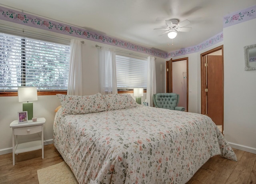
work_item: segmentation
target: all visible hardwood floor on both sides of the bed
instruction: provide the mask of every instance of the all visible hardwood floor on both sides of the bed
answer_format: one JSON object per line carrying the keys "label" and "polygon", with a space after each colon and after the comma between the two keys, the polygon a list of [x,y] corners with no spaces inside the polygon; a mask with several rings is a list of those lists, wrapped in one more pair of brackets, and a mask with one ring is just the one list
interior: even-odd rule
{"label": "all visible hardwood floor on both sides of the bed", "polygon": [[[234,149],[238,162],[214,156],[186,184],[256,184],[256,154]],[[63,161],[53,144],[41,150],[0,155],[0,184],[38,184],[37,170]]]}

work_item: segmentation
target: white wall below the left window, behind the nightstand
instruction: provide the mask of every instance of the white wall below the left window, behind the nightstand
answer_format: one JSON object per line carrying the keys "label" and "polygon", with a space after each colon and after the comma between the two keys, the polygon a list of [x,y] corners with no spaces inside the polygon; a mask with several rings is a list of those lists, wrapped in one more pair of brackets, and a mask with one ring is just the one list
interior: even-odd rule
{"label": "white wall below the left window, behind the nightstand", "polygon": [[[18,97],[0,97],[0,154],[11,152],[12,129],[10,123],[18,119],[18,112],[22,111],[22,103]],[[45,117],[44,138],[52,139],[52,126],[54,120],[54,109],[60,105],[56,95],[38,96],[38,101],[33,101],[34,117]],[[27,139],[40,140],[38,134],[19,136],[20,142]],[[3,150],[4,149],[4,150]],[[2,151],[2,152],[1,152]]]}

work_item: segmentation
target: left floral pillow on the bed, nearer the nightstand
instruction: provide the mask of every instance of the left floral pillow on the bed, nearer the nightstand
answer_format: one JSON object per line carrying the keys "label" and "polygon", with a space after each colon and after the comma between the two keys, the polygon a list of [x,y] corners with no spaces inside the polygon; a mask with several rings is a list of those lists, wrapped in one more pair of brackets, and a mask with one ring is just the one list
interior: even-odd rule
{"label": "left floral pillow on the bed, nearer the nightstand", "polygon": [[57,94],[63,114],[87,114],[106,111],[106,103],[100,93],[89,96]]}

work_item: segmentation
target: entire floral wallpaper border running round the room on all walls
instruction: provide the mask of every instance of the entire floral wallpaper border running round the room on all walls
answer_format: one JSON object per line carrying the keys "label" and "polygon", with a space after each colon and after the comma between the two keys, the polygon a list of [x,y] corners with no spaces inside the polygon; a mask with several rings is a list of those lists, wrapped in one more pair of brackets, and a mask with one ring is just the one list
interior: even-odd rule
{"label": "entire floral wallpaper border running round the room on all walls", "polygon": [[[236,12],[235,14],[231,14],[230,16],[224,17],[224,20],[225,20],[224,25],[231,26],[234,24],[238,24],[242,21],[256,18],[255,17],[255,8],[256,8],[256,5],[252,6],[250,8],[244,9],[240,12]],[[119,40],[119,39],[112,38],[112,37],[102,35],[102,34],[98,34],[95,32],[90,32],[90,31],[87,31],[82,28],[77,28],[77,27],[70,26],[67,24],[62,24],[59,22],[45,19],[45,18],[40,18],[38,16],[19,12],[17,10],[11,10],[9,8],[5,8],[2,6],[0,6],[0,19],[6,20],[9,22],[26,25],[26,26],[30,26],[30,27],[34,27],[34,28],[39,28],[39,29],[57,32],[57,33],[61,33],[61,34],[69,35],[69,36],[74,36],[77,38],[92,40],[95,42],[100,42],[102,44],[108,44],[108,45],[112,45],[112,46],[122,47],[124,49],[129,49],[132,51],[146,53],[149,55],[162,57],[162,58],[170,58],[170,57],[175,57],[175,56],[180,56],[180,55],[184,55],[184,54],[198,52],[198,51],[205,49],[209,46],[217,44],[218,42],[221,42],[223,40],[223,32],[221,32],[221,33],[217,34],[216,36],[214,36],[196,46],[181,48],[179,50],[172,51],[170,53],[166,53],[165,51],[151,49],[151,48],[144,47],[144,46],[139,46],[139,45],[133,44],[131,42]]]}

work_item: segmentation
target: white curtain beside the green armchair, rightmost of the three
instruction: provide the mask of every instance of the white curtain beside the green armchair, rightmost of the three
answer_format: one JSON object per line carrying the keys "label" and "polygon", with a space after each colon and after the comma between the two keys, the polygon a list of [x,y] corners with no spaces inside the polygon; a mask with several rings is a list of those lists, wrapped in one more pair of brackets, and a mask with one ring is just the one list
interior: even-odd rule
{"label": "white curtain beside the green armchair, rightmost of the three", "polygon": [[148,106],[153,106],[153,94],[156,94],[156,67],[155,58],[148,56],[148,77],[147,77],[147,102]]}

